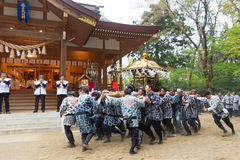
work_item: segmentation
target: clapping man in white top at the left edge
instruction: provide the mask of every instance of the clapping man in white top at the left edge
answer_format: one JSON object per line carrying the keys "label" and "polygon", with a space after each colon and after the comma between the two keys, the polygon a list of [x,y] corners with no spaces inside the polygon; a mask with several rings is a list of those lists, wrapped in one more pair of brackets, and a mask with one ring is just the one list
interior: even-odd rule
{"label": "clapping man in white top at the left edge", "polygon": [[2,72],[0,78],[0,114],[2,113],[2,101],[4,98],[6,114],[9,111],[9,95],[10,95],[11,79],[7,78],[7,73]]}

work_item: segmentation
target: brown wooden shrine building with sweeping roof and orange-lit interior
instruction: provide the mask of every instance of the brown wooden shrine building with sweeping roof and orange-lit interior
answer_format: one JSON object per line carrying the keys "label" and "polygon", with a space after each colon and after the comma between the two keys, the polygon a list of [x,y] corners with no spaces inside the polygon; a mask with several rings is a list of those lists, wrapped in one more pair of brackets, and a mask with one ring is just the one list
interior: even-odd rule
{"label": "brown wooden shrine building with sweeping roof and orange-lit interior", "polygon": [[[70,83],[78,83],[88,60],[98,71],[95,86],[107,88],[107,67],[153,37],[160,26],[136,26],[109,21],[101,6],[72,0],[22,0],[29,4],[29,21],[18,20],[17,0],[0,0],[0,40],[15,45],[46,45],[46,55],[9,58],[0,53],[1,71],[25,83],[43,74],[47,88],[53,88],[61,74]],[[16,52],[15,52],[16,54]],[[24,61],[24,63],[23,63]],[[40,63],[40,65],[39,65]],[[24,64],[24,65],[23,65]],[[40,67],[39,67],[40,66]],[[40,70],[39,70],[40,68]],[[24,74],[23,74],[24,72]],[[24,75],[24,77],[22,77]],[[101,79],[103,76],[103,79]],[[120,89],[121,88],[120,77]]]}

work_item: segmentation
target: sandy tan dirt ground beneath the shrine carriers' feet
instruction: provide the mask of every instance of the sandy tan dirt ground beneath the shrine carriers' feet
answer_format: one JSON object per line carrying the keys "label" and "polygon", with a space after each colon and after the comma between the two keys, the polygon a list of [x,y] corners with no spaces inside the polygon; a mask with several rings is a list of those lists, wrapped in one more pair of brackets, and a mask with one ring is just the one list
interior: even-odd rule
{"label": "sandy tan dirt ground beneath the shrine carriers' feet", "polygon": [[[131,139],[120,142],[119,135],[113,135],[108,144],[95,142],[94,137],[90,142],[93,150],[84,153],[79,132],[74,132],[77,147],[73,149],[66,148],[68,142],[62,132],[0,136],[0,160],[239,159],[240,118],[231,119],[236,135],[228,137],[221,137],[222,131],[209,113],[201,115],[200,119],[201,135],[169,137],[163,145],[148,145],[149,139],[144,136],[142,148],[134,156],[128,153]],[[228,127],[226,129],[230,132]]]}

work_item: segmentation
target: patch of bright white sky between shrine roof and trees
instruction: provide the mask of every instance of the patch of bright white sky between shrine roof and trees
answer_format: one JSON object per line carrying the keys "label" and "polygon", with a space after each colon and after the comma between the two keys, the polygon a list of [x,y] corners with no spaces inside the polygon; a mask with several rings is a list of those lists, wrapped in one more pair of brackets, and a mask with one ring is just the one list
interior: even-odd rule
{"label": "patch of bright white sky between shrine roof and trees", "polygon": [[100,8],[110,21],[124,24],[132,24],[133,21],[141,21],[144,11],[149,11],[149,3],[156,0],[73,0],[79,3],[104,6]]}

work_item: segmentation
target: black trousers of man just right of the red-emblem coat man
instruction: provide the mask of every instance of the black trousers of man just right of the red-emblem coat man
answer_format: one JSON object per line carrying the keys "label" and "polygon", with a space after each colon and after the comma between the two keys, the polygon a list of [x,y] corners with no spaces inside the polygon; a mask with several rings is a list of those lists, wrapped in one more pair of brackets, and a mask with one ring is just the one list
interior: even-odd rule
{"label": "black trousers of man just right of the red-emblem coat man", "polygon": [[161,141],[162,140],[161,121],[154,121],[147,118],[147,121],[145,124],[145,129],[146,129],[145,132],[149,133],[151,137],[154,137],[152,130],[150,129],[151,125],[153,125],[153,128],[157,133],[159,140]]}

